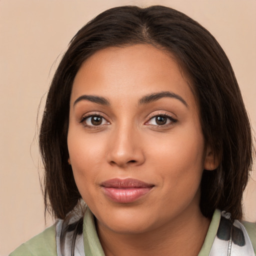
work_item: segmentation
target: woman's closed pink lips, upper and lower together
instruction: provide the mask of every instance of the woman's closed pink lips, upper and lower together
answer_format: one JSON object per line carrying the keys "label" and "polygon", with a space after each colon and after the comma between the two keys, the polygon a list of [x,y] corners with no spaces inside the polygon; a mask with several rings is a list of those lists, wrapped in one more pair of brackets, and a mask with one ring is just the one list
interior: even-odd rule
{"label": "woman's closed pink lips, upper and lower together", "polygon": [[103,181],[101,184],[103,193],[112,201],[119,203],[129,203],[136,201],[141,196],[147,194],[153,184],[143,182],[133,178],[113,178]]}

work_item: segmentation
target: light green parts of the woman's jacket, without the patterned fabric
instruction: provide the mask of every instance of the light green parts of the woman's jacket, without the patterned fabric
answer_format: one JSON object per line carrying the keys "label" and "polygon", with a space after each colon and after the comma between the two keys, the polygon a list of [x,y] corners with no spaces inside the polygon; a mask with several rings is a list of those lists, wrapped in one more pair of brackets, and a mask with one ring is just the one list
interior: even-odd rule
{"label": "light green parts of the woman's jacket, without the patterned fabric", "polygon": [[[220,211],[215,210],[204,243],[198,256],[209,255],[213,240],[216,236],[220,220]],[[256,255],[256,223],[242,222],[250,237]],[[94,225],[91,211],[86,210],[83,218],[83,245],[85,256],[104,256]],[[22,243],[9,256],[57,256],[55,225]]]}

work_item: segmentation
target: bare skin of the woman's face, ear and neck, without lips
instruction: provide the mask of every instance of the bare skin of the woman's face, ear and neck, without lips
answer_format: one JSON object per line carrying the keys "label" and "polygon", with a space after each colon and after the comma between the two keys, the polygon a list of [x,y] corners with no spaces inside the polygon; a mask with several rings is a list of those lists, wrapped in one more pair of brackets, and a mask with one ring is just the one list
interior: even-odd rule
{"label": "bare skin of the woman's face, ear and neck, without lips", "polygon": [[[162,91],[179,98],[138,102]],[[109,104],[82,95],[104,97]],[[90,115],[102,116],[101,124],[93,125]],[[156,123],[159,115],[167,115],[166,124]],[[90,56],[73,82],[67,143],[76,185],[96,217],[107,256],[198,254],[210,221],[199,209],[201,175],[216,166],[196,100],[169,53],[137,44]],[[153,187],[133,202],[119,203],[102,190],[102,182],[112,178]]]}

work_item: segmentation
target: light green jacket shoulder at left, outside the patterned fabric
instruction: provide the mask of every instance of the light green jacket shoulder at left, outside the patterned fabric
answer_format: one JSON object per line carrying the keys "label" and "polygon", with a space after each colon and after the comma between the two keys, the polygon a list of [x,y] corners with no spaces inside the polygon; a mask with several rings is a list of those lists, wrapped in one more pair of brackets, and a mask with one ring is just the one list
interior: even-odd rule
{"label": "light green jacket shoulder at left, outside the patterned fabric", "polygon": [[9,256],[56,256],[55,225],[22,243]]}

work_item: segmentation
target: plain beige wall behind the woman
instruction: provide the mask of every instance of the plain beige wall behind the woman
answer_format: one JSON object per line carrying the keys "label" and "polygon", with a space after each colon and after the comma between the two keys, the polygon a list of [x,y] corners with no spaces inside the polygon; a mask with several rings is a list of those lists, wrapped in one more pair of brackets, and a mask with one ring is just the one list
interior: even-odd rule
{"label": "plain beige wall behind the woman", "polygon": [[[167,5],[209,29],[233,65],[255,129],[256,0],[0,0],[0,255],[45,228],[36,116],[61,54],[85,22],[126,4]],[[252,179],[244,198],[244,218],[256,221]]]}

